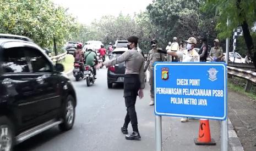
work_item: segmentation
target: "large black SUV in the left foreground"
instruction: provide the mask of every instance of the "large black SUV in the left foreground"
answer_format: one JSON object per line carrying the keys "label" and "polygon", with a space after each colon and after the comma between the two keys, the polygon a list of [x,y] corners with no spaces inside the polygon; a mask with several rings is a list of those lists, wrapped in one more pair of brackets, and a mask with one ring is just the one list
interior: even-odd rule
{"label": "large black SUV in the left foreground", "polygon": [[0,38],[0,150],[56,125],[72,129],[77,97],[63,70],[35,43]]}

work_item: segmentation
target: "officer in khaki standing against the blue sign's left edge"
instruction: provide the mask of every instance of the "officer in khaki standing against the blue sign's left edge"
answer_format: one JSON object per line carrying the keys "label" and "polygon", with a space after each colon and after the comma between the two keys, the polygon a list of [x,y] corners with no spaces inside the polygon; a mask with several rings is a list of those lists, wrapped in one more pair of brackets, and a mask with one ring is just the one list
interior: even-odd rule
{"label": "officer in khaki standing against the blue sign's left edge", "polygon": [[[144,71],[148,69],[149,71],[149,84],[150,84],[150,106],[153,106],[155,104],[154,100],[154,77],[153,77],[153,68],[154,68],[154,62],[156,61],[164,61],[165,56],[162,53],[159,53],[158,51],[162,51],[161,48],[157,48],[157,40],[152,39],[151,40],[151,47],[152,49],[149,50],[148,59],[146,60]],[[164,51],[163,51],[164,52]]]}

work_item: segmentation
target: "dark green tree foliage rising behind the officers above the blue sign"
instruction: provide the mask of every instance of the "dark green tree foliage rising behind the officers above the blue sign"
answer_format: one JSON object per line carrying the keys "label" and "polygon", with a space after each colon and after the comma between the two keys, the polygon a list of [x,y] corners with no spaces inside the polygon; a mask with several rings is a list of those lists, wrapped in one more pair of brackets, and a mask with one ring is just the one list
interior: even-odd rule
{"label": "dark green tree foliage rising behind the officers above the blue sign", "polygon": [[204,1],[156,0],[149,4],[147,10],[150,20],[157,26],[161,35],[156,38],[159,38],[163,45],[173,37],[178,40],[203,36],[216,38],[214,15],[210,11],[202,13],[199,9],[201,3]]}

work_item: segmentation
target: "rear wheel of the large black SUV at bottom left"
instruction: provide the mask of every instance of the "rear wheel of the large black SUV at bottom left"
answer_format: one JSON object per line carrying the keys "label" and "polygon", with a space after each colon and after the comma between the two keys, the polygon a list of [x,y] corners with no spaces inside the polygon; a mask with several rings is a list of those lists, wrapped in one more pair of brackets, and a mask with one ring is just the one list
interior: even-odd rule
{"label": "rear wheel of the large black SUV at bottom left", "polygon": [[9,151],[13,149],[14,130],[10,120],[0,117],[0,150]]}

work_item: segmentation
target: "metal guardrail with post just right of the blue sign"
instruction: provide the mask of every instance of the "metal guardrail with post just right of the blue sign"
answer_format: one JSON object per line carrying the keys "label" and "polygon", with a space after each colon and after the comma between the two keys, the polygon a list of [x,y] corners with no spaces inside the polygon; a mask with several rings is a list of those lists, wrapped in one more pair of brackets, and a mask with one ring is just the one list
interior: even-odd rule
{"label": "metal guardrail with post just right of the blue sign", "polygon": [[246,79],[246,92],[250,91],[250,89],[252,88],[252,83],[256,83],[256,72],[254,71],[248,71],[245,69],[227,66],[227,73],[242,79]]}

